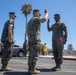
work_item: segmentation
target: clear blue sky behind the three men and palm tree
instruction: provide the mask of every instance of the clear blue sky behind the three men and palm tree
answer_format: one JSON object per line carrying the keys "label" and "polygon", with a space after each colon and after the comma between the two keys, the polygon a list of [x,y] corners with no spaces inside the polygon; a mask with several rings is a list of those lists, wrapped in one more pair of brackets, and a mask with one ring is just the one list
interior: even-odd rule
{"label": "clear blue sky behind the three men and palm tree", "polygon": [[[47,8],[50,26],[55,23],[53,15],[59,13],[61,21],[66,24],[68,30],[68,39],[64,48],[67,49],[68,44],[72,44],[74,48],[76,47],[76,0],[0,0],[0,37],[5,21],[9,19],[8,13],[14,11],[17,15],[14,29],[15,43],[23,45],[26,18],[22,14],[21,6],[25,3],[31,4],[32,9],[39,9],[41,17],[44,16],[44,8]],[[31,17],[32,13],[28,15],[28,21]],[[43,44],[46,42],[48,47],[52,48],[52,32],[47,31],[46,22],[41,25],[41,42]]]}

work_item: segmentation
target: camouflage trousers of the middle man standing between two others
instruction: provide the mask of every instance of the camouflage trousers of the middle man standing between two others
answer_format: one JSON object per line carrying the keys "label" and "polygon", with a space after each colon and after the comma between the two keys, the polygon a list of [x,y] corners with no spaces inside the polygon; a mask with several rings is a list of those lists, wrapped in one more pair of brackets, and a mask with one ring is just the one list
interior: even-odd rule
{"label": "camouflage trousers of the middle man standing between two others", "polygon": [[35,66],[36,61],[38,58],[38,50],[39,50],[39,43],[36,42],[28,42],[29,48],[29,58],[28,58],[28,65]]}

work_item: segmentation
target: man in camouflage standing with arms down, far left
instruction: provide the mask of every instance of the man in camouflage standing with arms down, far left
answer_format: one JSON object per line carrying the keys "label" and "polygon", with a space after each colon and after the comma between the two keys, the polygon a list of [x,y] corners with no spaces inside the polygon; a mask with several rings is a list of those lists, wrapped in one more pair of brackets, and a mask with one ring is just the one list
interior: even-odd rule
{"label": "man in camouflage standing with arms down, far left", "polygon": [[7,20],[4,24],[1,42],[4,45],[4,49],[2,50],[2,68],[3,71],[11,71],[12,68],[7,67],[10,58],[13,53],[13,43],[14,43],[14,19],[15,13],[9,12],[9,20]]}

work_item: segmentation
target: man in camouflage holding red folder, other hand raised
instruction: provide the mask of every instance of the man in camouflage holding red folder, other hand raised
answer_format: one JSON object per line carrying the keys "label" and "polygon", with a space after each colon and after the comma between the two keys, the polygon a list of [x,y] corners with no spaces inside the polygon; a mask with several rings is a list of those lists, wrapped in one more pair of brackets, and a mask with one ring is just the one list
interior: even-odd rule
{"label": "man in camouflage holding red folder, other hand raised", "polygon": [[[67,28],[65,23],[60,21],[60,14],[55,14],[54,19],[56,21],[51,27],[49,27],[50,20],[48,19],[47,28],[48,31],[52,31],[52,48],[56,66],[52,70],[61,70],[61,64],[63,59],[63,48],[67,41]],[[65,34],[64,34],[65,33]],[[64,38],[62,38],[64,37]]]}

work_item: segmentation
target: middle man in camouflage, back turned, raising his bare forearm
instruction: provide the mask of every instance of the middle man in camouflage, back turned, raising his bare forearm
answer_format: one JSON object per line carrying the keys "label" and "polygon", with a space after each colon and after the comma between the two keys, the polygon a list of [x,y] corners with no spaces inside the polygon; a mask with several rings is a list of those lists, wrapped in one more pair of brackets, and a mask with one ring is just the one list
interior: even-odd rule
{"label": "middle man in camouflage, back turned, raising his bare forearm", "polygon": [[40,18],[39,10],[33,10],[33,17],[27,24],[27,36],[29,46],[29,58],[28,58],[28,72],[38,74],[40,71],[35,69],[36,61],[38,57],[38,46],[40,43],[40,24],[45,22],[48,18],[48,11],[44,9],[45,16]]}

